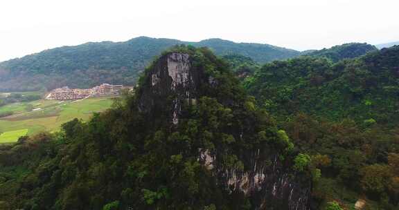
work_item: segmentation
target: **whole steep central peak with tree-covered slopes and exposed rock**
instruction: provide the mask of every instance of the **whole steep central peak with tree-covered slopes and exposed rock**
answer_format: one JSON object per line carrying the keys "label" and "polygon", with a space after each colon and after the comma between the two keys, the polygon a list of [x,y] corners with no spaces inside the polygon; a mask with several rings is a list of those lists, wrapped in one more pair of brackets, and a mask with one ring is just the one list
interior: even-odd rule
{"label": "whole steep central peak with tree-covered slopes and exposed rock", "polygon": [[3,207],[310,206],[308,158],[206,48],[163,53],[135,95],[63,129],[0,150]]}

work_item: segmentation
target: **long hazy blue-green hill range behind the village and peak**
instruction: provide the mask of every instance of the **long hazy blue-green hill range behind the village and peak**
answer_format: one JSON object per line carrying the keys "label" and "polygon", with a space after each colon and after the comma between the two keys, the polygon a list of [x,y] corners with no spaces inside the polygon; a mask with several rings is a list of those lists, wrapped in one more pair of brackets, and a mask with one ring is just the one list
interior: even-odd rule
{"label": "long hazy blue-green hill range behind the village and peak", "polygon": [[132,85],[155,55],[178,44],[206,46],[217,55],[245,55],[259,63],[299,55],[296,50],[268,44],[235,43],[222,39],[186,42],[136,37],[123,42],[89,42],[44,50],[0,63],[0,90],[38,90],[60,86],[87,88],[100,82]]}

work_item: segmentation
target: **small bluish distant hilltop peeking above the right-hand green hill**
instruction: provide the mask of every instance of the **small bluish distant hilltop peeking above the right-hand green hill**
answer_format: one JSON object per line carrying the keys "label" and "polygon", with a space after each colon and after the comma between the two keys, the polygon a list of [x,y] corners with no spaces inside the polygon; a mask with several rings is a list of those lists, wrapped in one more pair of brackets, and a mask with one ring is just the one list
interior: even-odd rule
{"label": "small bluish distant hilltop peeking above the right-hand green hill", "polygon": [[375,46],[366,43],[350,43],[339,46],[333,46],[332,48],[323,48],[322,50],[306,50],[302,54],[313,57],[327,57],[334,62],[342,59],[351,59],[365,55],[373,50],[378,50]]}

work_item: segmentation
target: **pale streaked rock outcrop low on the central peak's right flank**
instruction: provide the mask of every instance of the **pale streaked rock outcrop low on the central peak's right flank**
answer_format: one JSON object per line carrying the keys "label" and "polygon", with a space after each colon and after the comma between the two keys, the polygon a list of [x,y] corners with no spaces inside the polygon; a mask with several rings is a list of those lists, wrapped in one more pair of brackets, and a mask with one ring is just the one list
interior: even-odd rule
{"label": "pale streaked rock outcrop low on the central peak's right flank", "polygon": [[199,156],[207,169],[213,169],[222,187],[231,193],[241,191],[253,198],[256,204],[254,209],[310,209],[310,180],[292,175],[290,170],[285,169],[278,154],[262,153],[260,149],[247,153],[250,165],[244,171],[221,168],[216,155],[207,150],[201,150]]}

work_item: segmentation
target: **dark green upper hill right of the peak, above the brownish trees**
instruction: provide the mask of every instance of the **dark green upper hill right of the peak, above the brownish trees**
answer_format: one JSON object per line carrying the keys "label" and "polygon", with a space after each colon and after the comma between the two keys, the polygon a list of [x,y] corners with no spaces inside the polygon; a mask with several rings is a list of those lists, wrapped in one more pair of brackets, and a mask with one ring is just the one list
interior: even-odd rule
{"label": "dark green upper hill right of the peak, above the brownish trees", "polygon": [[275,115],[308,113],[357,122],[398,124],[399,46],[332,63],[297,57],[265,64],[247,79],[249,92]]}

